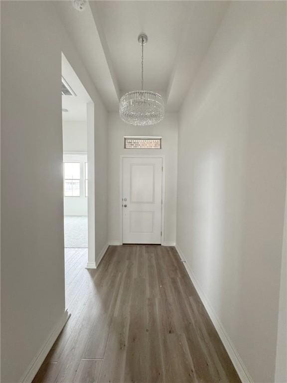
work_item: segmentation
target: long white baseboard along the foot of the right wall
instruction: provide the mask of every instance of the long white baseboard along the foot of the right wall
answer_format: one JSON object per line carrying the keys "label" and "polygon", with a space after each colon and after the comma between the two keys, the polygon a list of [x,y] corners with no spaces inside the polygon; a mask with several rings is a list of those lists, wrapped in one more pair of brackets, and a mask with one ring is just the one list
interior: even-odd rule
{"label": "long white baseboard along the foot of the right wall", "polygon": [[197,279],[195,278],[190,266],[186,262],[186,259],[184,257],[183,252],[180,250],[179,246],[176,244],[175,248],[180,256],[180,258],[184,261],[183,264],[185,266],[185,269],[189,275],[189,278],[191,279],[191,282],[193,283],[220,339],[223,343],[227,354],[229,355],[229,358],[231,359],[231,362],[233,363],[233,366],[235,370],[237,371],[237,374],[239,375],[239,378],[241,379],[242,383],[254,383],[253,379],[251,378],[250,374],[247,371],[247,368],[245,367],[242,359],[240,358],[238,352],[236,351],[231,339],[229,338],[228,334],[226,333],[222,323],[220,322],[219,318],[217,317],[217,314],[215,313],[213,307],[211,306],[208,298],[206,297],[205,293],[201,289]]}

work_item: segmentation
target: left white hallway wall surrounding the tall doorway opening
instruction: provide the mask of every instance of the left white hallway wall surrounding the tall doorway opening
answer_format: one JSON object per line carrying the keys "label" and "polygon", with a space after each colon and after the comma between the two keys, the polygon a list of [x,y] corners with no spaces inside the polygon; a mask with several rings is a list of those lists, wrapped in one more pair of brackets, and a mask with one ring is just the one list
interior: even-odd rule
{"label": "left white hallway wall surrounding the tall doorway opening", "polygon": [[107,113],[53,1],[0,5],[1,382],[15,383],[65,312],[61,51],[95,104],[96,256],[108,239]]}

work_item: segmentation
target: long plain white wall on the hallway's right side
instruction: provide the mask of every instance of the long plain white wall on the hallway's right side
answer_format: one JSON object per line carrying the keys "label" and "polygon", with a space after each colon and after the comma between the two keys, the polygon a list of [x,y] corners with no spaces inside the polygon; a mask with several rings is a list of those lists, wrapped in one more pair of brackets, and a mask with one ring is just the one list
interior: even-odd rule
{"label": "long plain white wall on the hallway's right side", "polygon": [[275,376],[285,7],[231,2],[179,116],[177,245],[256,383]]}

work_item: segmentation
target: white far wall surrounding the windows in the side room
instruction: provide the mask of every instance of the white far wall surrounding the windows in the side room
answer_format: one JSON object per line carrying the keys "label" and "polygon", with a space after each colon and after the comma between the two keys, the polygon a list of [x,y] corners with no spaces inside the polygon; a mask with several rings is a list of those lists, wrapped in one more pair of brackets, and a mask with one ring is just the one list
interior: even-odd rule
{"label": "white far wall surrounding the windows in the side room", "polygon": [[[87,153],[87,122],[63,121],[63,150],[65,152]],[[88,215],[88,198],[84,190],[85,156],[64,156],[65,162],[80,162],[81,195],[79,197],[64,197],[64,215]]]}

